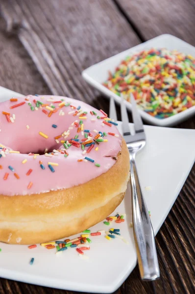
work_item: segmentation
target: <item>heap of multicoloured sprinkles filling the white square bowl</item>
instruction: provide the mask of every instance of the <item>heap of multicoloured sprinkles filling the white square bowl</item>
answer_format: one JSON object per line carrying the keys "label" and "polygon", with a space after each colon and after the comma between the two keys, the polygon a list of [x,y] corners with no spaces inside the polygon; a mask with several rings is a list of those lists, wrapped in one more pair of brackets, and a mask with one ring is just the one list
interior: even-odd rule
{"label": "heap of multicoloured sprinkles filling the white square bowl", "polygon": [[195,58],[168,49],[127,56],[103,85],[149,115],[165,119],[195,105]]}

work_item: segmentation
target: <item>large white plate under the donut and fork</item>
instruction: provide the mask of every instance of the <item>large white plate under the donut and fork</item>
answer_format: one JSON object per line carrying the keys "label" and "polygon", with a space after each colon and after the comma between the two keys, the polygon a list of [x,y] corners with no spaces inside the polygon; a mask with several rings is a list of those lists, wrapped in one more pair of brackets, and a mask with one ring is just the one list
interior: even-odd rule
{"label": "large white plate under the donut and fork", "polygon": [[[13,96],[20,95],[0,87],[0,101]],[[147,208],[151,211],[151,222],[157,234],[195,161],[195,130],[155,126],[145,126],[145,130],[147,144],[137,155],[137,166]],[[146,186],[150,186],[151,190],[146,191]],[[91,249],[85,251],[89,259],[84,260],[78,256],[75,248],[68,248],[56,257],[55,249],[47,250],[40,245],[28,249],[26,245],[0,243],[0,277],[71,291],[114,292],[136,265],[133,230],[129,227],[129,190],[117,212],[126,213],[123,223],[113,222],[112,226],[107,226],[100,222],[91,230],[120,228],[129,244],[120,239],[108,241],[104,236],[91,237]],[[29,265],[32,257],[34,264]]]}

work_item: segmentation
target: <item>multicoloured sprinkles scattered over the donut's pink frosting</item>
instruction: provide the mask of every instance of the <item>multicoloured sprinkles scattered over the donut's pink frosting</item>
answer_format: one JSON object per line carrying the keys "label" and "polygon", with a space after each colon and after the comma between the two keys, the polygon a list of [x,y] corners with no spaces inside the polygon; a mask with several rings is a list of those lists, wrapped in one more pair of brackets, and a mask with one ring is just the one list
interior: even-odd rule
{"label": "multicoloured sprinkles scattered over the donut's pink frosting", "polygon": [[[42,161],[37,160],[37,166],[38,168],[42,170],[49,169],[50,172],[54,173],[55,170],[58,167],[58,163],[55,162],[55,157],[58,154],[63,154],[64,157],[69,156],[69,148],[80,148],[81,150],[81,158],[75,159],[77,162],[89,162],[89,164],[94,164],[95,167],[99,168],[100,163],[93,158],[91,155],[94,151],[98,151],[99,146],[102,144],[106,144],[106,142],[109,141],[110,136],[119,137],[118,134],[115,134],[112,131],[112,126],[116,126],[117,123],[114,122],[114,120],[110,119],[108,115],[100,109],[101,115],[97,115],[95,111],[87,112],[85,109],[81,109],[81,106],[74,106],[71,103],[67,103],[64,98],[61,98],[60,100],[56,101],[54,98],[49,97],[47,99],[47,102],[42,102],[42,99],[45,99],[45,97],[41,97],[39,95],[35,95],[36,98],[33,98],[31,102],[29,101],[30,95],[26,96],[24,98],[24,101],[19,102],[18,98],[11,98],[11,106],[10,111],[2,111],[2,116],[5,118],[7,123],[15,123],[17,120],[17,116],[15,113],[13,113],[15,108],[18,107],[24,107],[24,104],[27,104],[29,106],[30,111],[36,112],[41,111],[43,115],[47,115],[49,119],[51,120],[50,127],[53,129],[56,129],[56,136],[53,138],[55,143],[59,144],[60,146],[63,145],[63,147],[53,149],[52,152],[48,152],[48,149],[45,149],[44,155],[46,157],[49,157],[48,165],[46,166],[43,164]],[[45,100],[46,101],[46,100]],[[12,104],[13,103],[13,104]],[[64,107],[70,108],[70,111],[68,112],[68,115],[73,117],[73,121],[68,129],[64,130],[63,133],[58,132],[58,125],[55,123],[55,115],[64,116],[65,112],[63,111]],[[99,121],[99,125],[101,126],[109,126],[110,132],[102,132],[100,130],[96,129],[87,129],[85,128],[85,122],[86,120],[93,121]],[[30,130],[29,124],[25,125],[27,131]],[[71,138],[71,130],[73,128],[76,128],[77,134]],[[41,125],[40,129],[38,130],[38,134],[43,137],[46,141],[49,138],[49,134],[46,134],[42,131]],[[93,150],[93,152],[91,152]],[[20,151],[17,150],[10,150],[9,148],[3,146],[0,144],[0,158],[6,157],[9,153],[20,153]],[[28,156],[33,156],[33,159],[38,159],[40,154],[36,153],[29,153]],[[117,159],[116,157],[113,157],[113,159]],[[22,161],[22,164],[25,164],[28,161],[27,158],[25,158]],[[17,167],[15,166],[8,166],[4,167],[3,165],[0,165],[0,170],[8,168],[8,172],[4,172],[2,178],[4,181],[7,181],[9,179],[12,179],[12,174],[17,178],[18,180],[21,179],[22,176],[27,176],[29,178],[29,182],[27,184],[27,189],[30,189],[33,186],[33,182],[31,181],[31,174],[34,173],[33,169],[26,170],[25,174],[18,174],[17,173]],[[82,164],[81,164],[82,168]]]}

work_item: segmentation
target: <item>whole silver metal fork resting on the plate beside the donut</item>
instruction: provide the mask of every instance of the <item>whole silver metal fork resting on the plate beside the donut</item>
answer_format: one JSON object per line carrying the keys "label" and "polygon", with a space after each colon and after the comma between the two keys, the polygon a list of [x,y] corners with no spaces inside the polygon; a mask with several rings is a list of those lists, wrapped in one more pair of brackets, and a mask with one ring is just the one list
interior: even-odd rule
{"label": "whole silver metal fork resting on the plate beside the donut", "polygon": [[[130,159],[133,232],[141,278],[144,281],[153,281],[160,276],[154,232],[135,164],[136,153],[146,145],[146,135],[141,117],[136,107],[135,99],[132,94],[131,106],[135,130],[135,134],[133,136],[130,133],[127,110],[122,97],[122,133],[129,150]],[[110,98],[110,117],[117,121],[115,102],[112,97]]]}

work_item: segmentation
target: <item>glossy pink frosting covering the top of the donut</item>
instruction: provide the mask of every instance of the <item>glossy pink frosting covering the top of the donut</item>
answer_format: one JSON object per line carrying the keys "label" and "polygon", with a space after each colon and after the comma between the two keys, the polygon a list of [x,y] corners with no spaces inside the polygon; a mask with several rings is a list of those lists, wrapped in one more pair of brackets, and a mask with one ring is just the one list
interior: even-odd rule
{"label": "glossy pink frosting covering the top of the donut", "polygon": [[[64,99],[65,106],[59,108],[59,102]],[[34,100],[34,101],[33,101]],[[36,107],[35,100],[39,100],[49,106],[54,105],[58,110],[52,113],[50,117],[43,112],[46,110],[48,113],[50,110],[45,106]],[[11,106],[24,102],[25,104],[16,108]],[[35,108],[31,110],[31,105]],[[73,109],[71,105],[76,108],[80,106],[79,111],[86,111],[87,119],[79,119],[79,116],[73,116],[77,109]],[[39,104],[40,105],[40,104]],[[97,115],[92,115],[90,111],[95,111]],[[10,118],[13,122],[8,122],[6,115],[2,112],[10,113]],[[15,117],[14,117],[15,115]],[[106,125],[104,119],[97,119],[97,116],[104,117],[102,112],[96,110],[90,105],[71,98],[64,98],[59,96],[26,96],[18,98],[18,101],[5,101],[0,103],[0,195],[26,195],[45,193],[51,190],[66,189],[75,185],[83,184],[89,180],[107,172],[114,164],[115,160],[112,156],[117,156],[121,150],[121,135],[115,125]],[[93,120],[94,119],[94,120]],[[116,136],[107,134],[103,139],[107,139],[108,142],[100,142],[99,145],[95,144],[93,149],[86,154],[82,154],[83,150],[81,145],[79,148],[71,146],[66,151],[69,153],[67,157],[62,153],[55,152],[57,155],[48,157],[44,154],[46,148],[51,152],[53,149],[64,148],[61,140],[70,140],[78,135],[79,142],[84,139],[84,133],[82,131],[77,132],[77,126],[72,123],[79,123],[83,121],[83,130],[90,130],[94,138],[97,132],[112,132]],[[52,125],[57,125],[56,128]],[[28,128],[29,127],[29,128]],[[70,128],[70,129],[69,129]],[[58,139],[57,143],[54,137],[63,134],[65,131],[70,131],[69,135]],[[97,130],[97,132],[96,132]],[[48,139],[42,137],[39,132],[43,132],[48,136]],[[87,133],[89,136],[89,133]],[[67,137],[66,137],[67,136]],[[101,137],[100,137],[101,138]],[[92,139],[93,140],[93,139]],[[98,150],[95,150],[98,147]],[[87,150],[89,147],[85,147]],[[65,148],[64,148],[65,149]],[[4,151],[3,151],[4,150]],[[10,150],[20,151],[20,153],[10,153]],[[40,153],[42,155],[29,155],[28,153]],[[94,162],[84,160],[85,157],[89,157]],[[107,157],[110,156],[110,157]],[[25,163],[24,160],[27,159]],[[83,161],[78,162],[79,159]],[[42,162],[45,170],[40,167],[40,161]],[[54,172],[51,172],[48,166],[48,162],[56,163],[58,166],[52,166]],[[95,164],[100,164],[97,167]],[[9,169],[11,166],[14,171]],[[32,172],[29,175],[26,173],[29,170]],[[4,180],[5,173],[9,173],[6,180]],[[16,173],[20,178],[17,178]],[[29,188],[29,183],[32,182]]]}

